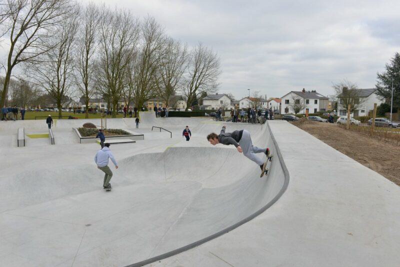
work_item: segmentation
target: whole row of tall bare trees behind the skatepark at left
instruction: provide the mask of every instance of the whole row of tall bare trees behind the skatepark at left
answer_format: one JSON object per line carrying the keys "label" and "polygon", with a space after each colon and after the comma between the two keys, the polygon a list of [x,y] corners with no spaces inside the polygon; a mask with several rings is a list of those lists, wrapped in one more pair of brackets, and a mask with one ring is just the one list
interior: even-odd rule
{"label": "whole row of tall bare trees behind the skatepark at left", "polygon": [[[218,88],[217,53],[200,42],[188,48],[149,15],[72,0],[7,0],[0,8],[0,45],[8,49],[1,106],[27,97],[15,84],[34,88],[31,97],[49,95],[59,115],[65,97],[78,96],[86,107],[90,98],[103,98],[113,117],[120,99],[127,107],[156,96],[168,104],[179,91],[191,103]],[[22,74],[14,74],[17,68]]]}

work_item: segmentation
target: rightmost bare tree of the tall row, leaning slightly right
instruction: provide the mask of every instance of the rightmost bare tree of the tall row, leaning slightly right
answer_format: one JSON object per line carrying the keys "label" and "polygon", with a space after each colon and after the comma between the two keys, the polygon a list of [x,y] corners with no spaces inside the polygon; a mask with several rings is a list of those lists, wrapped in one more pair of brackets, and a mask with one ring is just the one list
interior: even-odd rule
{"label": "rightmost bare tree of the tall row, leaning slightly right", "polygon": [[220,71],[219,58],[212,50],[199,43],[191,51],[187,79],[183,90],[187,106],[202,92],[215,92]]}

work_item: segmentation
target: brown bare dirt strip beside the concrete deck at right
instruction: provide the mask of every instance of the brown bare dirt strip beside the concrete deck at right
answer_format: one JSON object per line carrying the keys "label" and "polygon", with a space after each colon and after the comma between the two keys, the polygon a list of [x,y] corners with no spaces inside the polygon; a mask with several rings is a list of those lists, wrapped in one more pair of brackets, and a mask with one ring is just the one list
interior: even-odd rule
{"label": "brown bare dirt strip beside the concrete deck at right", "polygon": [[346,130],[335,123],[305,120],[294,124],[400,185],[400,145]]}

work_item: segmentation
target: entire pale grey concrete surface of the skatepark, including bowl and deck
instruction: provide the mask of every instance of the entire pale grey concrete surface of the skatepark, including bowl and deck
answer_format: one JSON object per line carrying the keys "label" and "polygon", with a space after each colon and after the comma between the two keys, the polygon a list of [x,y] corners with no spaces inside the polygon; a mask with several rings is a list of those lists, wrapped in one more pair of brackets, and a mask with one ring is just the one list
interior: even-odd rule
{"label": "entire pale grey concrete surface of the skatepark, including bowl and deck", "polygon": [[376,172],[285,121],[225,123],[271,148],[271,172],[260,178],[234,146],[207,142],[222,123],[140,116],[138,129],[133,118],[107,120],[109,128],[144,134],[110,146],[119,165],[109,164],[110,192],[93,160],[99,145],[79,144],[72,131],[99,120],[56,120],[55,145],[27,138],[25,147],[16,147],[16,129],[44,133],[44,120],[1,121],[0,266],[140,264],[265,207],[149,265],[398,266],[400,189]]}

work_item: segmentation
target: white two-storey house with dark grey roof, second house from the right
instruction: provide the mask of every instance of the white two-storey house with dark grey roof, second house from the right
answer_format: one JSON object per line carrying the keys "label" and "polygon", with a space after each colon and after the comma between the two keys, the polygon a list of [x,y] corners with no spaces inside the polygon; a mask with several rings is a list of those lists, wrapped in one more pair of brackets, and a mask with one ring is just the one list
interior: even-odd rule
{"label": "white two-storey house with dark grey roof, second house from the right", "polygon": [[308,113],[326,111],[328,107],[328,98],[326,96],[323,96],[314,90],[306,91],[305,89],[302,89],[302,91],[290,91],[281,97],[282,113],[294,113],[292,108],[293,99],[304,101],[305,103],[304,108],[298,112],[299,114],[305,114],[306,110],[308,110]]}

